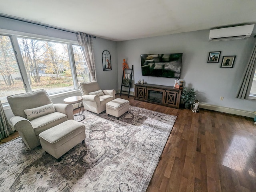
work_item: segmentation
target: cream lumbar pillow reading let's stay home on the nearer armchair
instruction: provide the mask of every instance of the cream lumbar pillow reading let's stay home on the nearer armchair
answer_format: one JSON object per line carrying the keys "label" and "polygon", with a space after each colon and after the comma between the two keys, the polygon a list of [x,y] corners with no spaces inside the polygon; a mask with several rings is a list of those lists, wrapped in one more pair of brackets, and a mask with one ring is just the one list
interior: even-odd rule
{"label": "cream lumbar pillow reading let's stay home on the nearer armchair", "polygon": [[56,110],[53,104],[48,104],[48,105],[44,105],[44,106],[40,106],[32,109],[25,109],[24,112],[27,115],[27,119],[32,120],[34,118],[38,118],[46,114],[56,112]]}

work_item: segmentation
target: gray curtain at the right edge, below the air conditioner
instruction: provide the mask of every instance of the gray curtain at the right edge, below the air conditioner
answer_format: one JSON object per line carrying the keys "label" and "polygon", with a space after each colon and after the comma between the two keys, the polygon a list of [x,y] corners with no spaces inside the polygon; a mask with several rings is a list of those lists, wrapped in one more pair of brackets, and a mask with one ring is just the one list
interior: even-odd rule
{"label": "gray curtain at the right edge, below the air conditioner", "polygon": [[250,95],[250,88],[252,86],[252,80],[254,77],[255,68],[256,68],[256,45],[254,46],[254,49],[252,51],[252,55],[250,57],[249,63],[245,68],[246,70],[244,72],[244,76],[238,87],[236,98],[248,99]]}

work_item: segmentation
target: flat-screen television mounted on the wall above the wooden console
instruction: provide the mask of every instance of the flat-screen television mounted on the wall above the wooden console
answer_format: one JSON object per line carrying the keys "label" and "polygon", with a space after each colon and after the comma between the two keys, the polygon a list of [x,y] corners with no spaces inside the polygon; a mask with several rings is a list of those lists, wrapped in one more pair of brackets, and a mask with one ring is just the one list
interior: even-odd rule
{"label": "flat-screen television mounted on the wall above the wooden console", "polygon": [[182,53],[140,55],[143,76],[180,78]]}

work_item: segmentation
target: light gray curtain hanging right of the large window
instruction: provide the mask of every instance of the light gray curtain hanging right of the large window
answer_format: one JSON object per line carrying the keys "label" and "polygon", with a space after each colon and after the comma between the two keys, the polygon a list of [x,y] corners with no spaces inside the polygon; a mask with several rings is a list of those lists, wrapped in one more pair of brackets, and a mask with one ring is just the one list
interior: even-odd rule
{"label": "light gray curtain hanging right of the large window", "polygon": [[78,43],[81,47],[82,54],[84,56],[85,63],[89,69],[92,80],[97,80],[95,71],[95,60],[94,60],[94,50],[92,44],[92,35],[86,33],[77,32],[76,34]]}

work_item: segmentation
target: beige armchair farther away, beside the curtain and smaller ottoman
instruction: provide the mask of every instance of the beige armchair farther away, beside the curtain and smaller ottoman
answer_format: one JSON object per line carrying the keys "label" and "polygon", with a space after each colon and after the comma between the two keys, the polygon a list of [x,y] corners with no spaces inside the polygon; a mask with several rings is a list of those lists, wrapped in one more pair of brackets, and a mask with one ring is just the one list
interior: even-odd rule
{"label": "beige armchair farther away, beside the curtain and smaller ottoman", "polygon": [[101,90],[98,82],[81,82],[79,88],[82,92],[84,109],[99,114],[106,110],[106,103],[116,98],[116,91]]}

